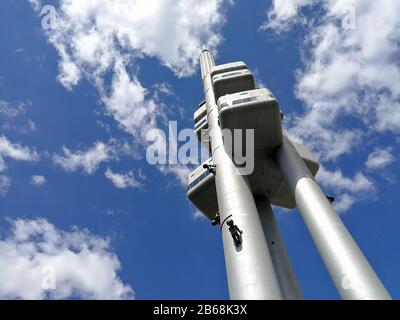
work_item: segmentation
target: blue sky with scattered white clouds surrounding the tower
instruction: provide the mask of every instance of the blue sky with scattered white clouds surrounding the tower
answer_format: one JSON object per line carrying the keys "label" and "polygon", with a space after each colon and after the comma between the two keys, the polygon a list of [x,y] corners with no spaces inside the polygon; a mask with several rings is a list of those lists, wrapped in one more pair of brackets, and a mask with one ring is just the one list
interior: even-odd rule
{"label": "blue sky with scattered white clouds surrounding the tower", "polygon": [[[246,61],[278,98],[289,134],[320,159],[324,190],[398,298],[396,0],[340,10],[207,0],[201,14],[193,1],[129,2],[0,3],[0,297],[228,298],[219,231],[186,200],[188,169],[145,158],[147,130],[193,126],[206,43],[218,63]],[[44,5],[56,9],[54,30],[42,28]],[[352,9],[357,24],[346,29]],[[381,35],[363,28],[373,12]],[[305,298],[339,298],[297,210],[276,212]],[[55,290],[40,289],[46,265]]]}

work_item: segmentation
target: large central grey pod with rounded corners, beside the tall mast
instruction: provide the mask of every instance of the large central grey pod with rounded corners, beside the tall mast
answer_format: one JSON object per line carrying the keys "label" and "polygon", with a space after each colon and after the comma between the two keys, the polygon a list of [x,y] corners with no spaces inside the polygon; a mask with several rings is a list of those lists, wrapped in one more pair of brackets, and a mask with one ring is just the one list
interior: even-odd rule
{"label": "large central grey pod with rounded corners, beside the tall mast", "polygon": [[223,96],[218,100],[218,109],[223,129],[254,129],[255,150],[269,153],[282,144],[279,104],[268,89]]}

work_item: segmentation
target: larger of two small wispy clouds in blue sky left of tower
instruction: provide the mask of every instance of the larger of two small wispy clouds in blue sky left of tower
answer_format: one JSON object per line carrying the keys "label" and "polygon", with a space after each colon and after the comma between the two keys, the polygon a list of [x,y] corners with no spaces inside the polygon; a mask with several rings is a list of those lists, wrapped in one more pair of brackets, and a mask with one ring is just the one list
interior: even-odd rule
{"label": "larger of two small wispy clouds in blue sky left of tower", "polygon": [[71,152],[63,147],[63,155],[53,155],[53,162],[61,166],[67,172],[82,169],[87,174],[93,174],[103,162],[107,162],[113,157],[113,149],[103,142],[97,142],[86,151]]}

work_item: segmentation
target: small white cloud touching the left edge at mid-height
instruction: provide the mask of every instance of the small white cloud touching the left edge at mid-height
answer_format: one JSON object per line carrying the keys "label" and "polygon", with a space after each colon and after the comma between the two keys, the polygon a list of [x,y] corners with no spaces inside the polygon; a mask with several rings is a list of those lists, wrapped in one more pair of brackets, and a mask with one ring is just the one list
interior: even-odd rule
{"label": "small white cloud touching the left edge at mid-height", "polygon": [[4,158],[34,162],[39,159],[39,155],[33,149],[13,144],[5,136],[0,136],[0,172],[6,169]]}

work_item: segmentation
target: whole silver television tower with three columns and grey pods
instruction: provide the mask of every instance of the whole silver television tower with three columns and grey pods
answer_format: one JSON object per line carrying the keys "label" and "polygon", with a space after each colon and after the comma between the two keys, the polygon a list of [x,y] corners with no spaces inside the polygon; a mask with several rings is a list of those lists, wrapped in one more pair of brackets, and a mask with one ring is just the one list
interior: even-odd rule
{"label": "whole silver television tower with three columns and grey pods", "polygon": [[[220,225],[230,298],[303,298],[273,204],[298,207],[343,299],[390,299],[315,181],[318,162],[283,132],[282,113],[272,93],[256,88],[243,62],[216,66],[204,48],[200,65],[205,101],[194,114],[195,130],[211,158],[190,174],[188,198],[213,225]],[[251,172],[245,172],[235,157],[243,139],[233,134],[229,142],[225,135],[237,129],[253,134],[252,141],[247,135],[244,140],[254,149]]]}

